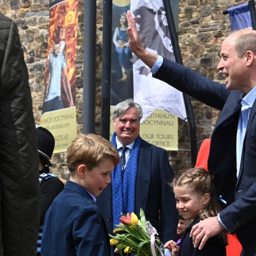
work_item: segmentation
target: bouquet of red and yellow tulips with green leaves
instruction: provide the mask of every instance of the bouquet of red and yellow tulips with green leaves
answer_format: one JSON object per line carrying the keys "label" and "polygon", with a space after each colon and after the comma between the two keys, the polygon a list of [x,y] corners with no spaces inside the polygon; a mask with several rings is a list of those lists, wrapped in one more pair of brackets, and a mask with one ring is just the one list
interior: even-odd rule
{"label": "bouquet of red and yellow tulips with green leaves", "polygon": [[121,214],[120,224],[116,225],[124,234],[116,234],[110,239],[110,245],[117,245],[120,255],[134,253],[138,256],[164,256],[164,246],[157,237],[157,230],[146,220],[140,209],[140,220],[135,213]]}

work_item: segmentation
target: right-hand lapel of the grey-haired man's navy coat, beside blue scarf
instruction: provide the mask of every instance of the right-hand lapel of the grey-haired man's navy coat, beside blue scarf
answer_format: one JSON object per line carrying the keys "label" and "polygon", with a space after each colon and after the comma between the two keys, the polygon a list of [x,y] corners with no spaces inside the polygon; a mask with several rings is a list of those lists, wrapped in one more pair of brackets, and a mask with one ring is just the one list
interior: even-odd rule
{"label": "right-hand lapel of the grey-haired man's navy coat, beside blue scarf", "polygon": [[150,144],[141,139],[136,179],[136,215],[139,216],[140,208],[146,209],[149,185],[151,179],[152,148]]}

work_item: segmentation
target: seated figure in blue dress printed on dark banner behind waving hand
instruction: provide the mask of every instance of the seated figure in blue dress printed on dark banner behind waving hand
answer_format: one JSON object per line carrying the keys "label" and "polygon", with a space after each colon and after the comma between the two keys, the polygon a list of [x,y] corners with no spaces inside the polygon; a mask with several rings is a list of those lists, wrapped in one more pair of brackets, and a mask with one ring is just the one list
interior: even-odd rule
{"label": "seated figure in blue dress printed on dark banner behind waving hand", "polygon": [[120,81],[125,81],[127,79],[126,68],[131,68],[132,63],[132,52],[128,45],[127,27],[128,23],[126,14],[122,13],[120,15],[120,26],[116,27],[113,34],[113,43],[118,53],[119,63],[123,75]]}

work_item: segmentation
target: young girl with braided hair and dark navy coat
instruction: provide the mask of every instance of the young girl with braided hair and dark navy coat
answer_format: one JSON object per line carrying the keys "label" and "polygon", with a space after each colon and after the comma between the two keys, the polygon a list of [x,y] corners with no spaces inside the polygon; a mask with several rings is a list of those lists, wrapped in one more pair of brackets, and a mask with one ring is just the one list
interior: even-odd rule
{"label": "young girl with braided hair and dark navy coat", "polygon": [[200,220],[217,216],[221,210],[215,196],[212,176],[203,168],[180,171],[173,178],[171,186],[176,199],[176,207],[184,219],[193,219],[185,229],[181,244],[168,241],[172,256],[226,256],[227,234],[225,231],[211,237],[202,250],[194,248],[190,231]]}

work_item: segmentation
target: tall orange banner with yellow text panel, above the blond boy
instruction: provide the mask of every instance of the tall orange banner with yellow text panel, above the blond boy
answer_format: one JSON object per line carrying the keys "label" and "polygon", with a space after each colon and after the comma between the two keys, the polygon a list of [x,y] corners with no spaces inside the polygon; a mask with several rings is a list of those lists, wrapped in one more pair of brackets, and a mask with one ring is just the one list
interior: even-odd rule
{"label": "tall orange banner with yellow text panel, above the blond boy", "polygon": [[51,0],[40,125],[55,138],[53,153],[67,150],[76,137],[75,60],[78,0]]}

